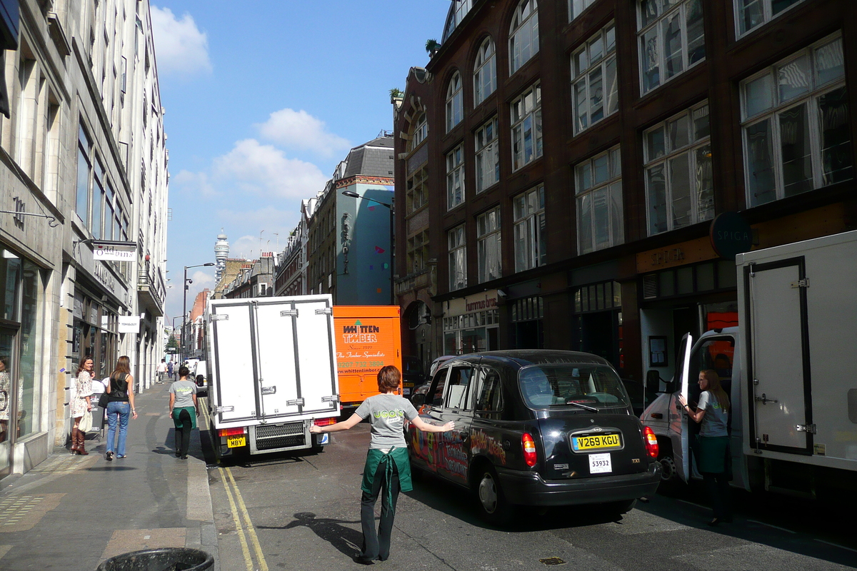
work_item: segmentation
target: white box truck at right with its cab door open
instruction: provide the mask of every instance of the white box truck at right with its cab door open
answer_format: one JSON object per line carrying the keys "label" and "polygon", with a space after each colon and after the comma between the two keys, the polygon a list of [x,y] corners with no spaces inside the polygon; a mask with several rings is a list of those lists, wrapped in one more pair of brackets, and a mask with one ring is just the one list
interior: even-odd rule
{"label": "white box truck at right with its cab door open", "polygon": [[677,374],[642,415],[664,479],[698,476],[682,394],[715,369],[732,404],[733,485],[815,497],[857,479],[857,231],[739,254],[738,327],[685,336]]}

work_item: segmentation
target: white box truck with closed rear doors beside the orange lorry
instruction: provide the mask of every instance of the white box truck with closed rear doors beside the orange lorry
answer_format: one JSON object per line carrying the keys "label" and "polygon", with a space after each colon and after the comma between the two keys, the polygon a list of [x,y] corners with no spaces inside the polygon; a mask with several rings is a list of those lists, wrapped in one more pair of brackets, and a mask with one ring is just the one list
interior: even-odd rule
{"label": "white box truck with closed rear doors beside the orange lorry", "polygon": [[320,450],[339,416],[330,295],[210,300],[208,404],[218,457]]}

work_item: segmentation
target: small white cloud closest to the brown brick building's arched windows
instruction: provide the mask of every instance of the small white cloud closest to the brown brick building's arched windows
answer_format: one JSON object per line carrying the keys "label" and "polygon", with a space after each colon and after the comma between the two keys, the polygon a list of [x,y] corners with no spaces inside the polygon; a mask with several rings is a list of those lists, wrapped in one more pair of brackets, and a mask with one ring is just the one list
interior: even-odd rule
{"label": "small white cloud closest to the brown brick building's arched windows", "polygon": [[264,123],[255,125],[267,140],[297,149],[308,149],[326,157],[347,151],[351,143],[339,135],[328,133],[325,122],[304,110],[274,111]]}

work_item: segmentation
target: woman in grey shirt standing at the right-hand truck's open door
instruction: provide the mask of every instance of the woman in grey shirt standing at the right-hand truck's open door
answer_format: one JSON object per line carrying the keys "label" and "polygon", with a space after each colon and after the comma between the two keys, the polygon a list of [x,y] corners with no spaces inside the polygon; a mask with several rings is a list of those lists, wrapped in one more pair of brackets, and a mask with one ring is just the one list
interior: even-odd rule
{"label": "woman in grey shirt standing at the right-hand truck's open door", "polygon": [[679,395],[679,401],[687,416],[702,425],[697,437],[697,469],[702,474],[714,511],[714,519],[708,525],[716,526],[722,521],[732,521],[732,505],[729,501],[731,474],[728,473],[727,464],[729,396],[720,385],[717,372],[712,369],[699,372],[698,383],[702,393],[695,411],[687,406],[684,396]]}

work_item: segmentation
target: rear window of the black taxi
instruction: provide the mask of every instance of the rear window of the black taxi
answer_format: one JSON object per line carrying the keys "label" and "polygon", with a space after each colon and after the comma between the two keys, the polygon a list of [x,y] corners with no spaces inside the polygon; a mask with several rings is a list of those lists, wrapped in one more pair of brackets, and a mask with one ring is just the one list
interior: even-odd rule
{"label": "rear window of the black taxi", "polygon": [[530,408],[627,407],[630,402],[619,377],[604,365],[525,366],[518,372],[518,383]]}

